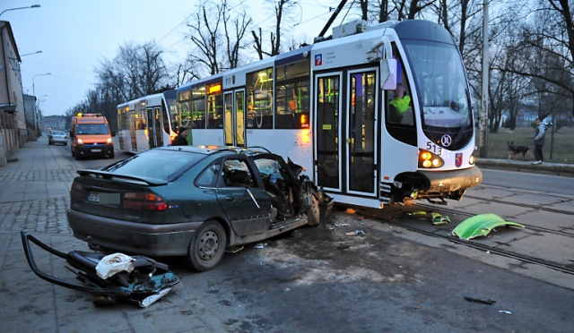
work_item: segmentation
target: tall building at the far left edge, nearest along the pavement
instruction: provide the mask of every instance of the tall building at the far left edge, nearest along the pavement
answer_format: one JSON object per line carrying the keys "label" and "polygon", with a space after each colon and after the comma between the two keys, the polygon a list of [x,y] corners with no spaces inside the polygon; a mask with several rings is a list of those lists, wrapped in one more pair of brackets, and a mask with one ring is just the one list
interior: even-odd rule
{"label": "tall building at the far left edge, nearest along the pavement", "polygon": [[20,54],[8,21],[0,21],[0,166],[28,139]]}

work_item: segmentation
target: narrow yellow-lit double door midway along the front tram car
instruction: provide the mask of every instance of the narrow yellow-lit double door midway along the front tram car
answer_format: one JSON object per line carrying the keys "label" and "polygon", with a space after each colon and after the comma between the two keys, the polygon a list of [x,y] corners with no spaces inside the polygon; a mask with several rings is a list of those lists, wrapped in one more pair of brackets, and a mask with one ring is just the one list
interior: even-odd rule
{"label": "narrow yellow-lit double door midway along the front tram car", "polygon": [[223,94],[223,126],[225,145],[246,147],[245,142],[245,90],[233,90]]}

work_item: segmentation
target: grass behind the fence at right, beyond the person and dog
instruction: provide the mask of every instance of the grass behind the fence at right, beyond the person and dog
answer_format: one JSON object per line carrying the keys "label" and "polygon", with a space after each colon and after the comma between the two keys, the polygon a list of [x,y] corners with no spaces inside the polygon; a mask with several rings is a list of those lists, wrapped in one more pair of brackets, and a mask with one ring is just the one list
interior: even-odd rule
{"label": "grass behind the fence at right, beyond the person and dog", "polygon": [[[527,146],[530,150],[526,160],[534,161],[534,145],[532,139],[535,136],[534,127],[519,127],[514,131],[500,128],[497,133],[488,133],[486,158],[509,158],[509,141],[514,141],[515,146]],[[562,127],[554,132],[552,142],[552,128],[546,130],[546,138],[543,148],[544,160],[554,163],[574,164],[574,128]],[[479,132],[476,132],[476,145],[479,145]],[[551,158],[552,153],[552,158]],[[522,154],[517,154],[515,159],[522,159]]]}

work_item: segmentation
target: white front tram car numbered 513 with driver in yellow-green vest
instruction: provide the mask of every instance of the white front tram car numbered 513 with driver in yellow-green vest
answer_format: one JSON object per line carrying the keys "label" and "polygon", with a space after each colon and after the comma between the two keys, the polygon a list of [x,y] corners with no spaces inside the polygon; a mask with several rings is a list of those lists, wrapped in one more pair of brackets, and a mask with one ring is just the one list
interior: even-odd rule
{"label": "white front tram car numbered 513 with driver in yellow-green vest", "polygon": [[430,21],[352,21],[177,93],[194,144],[264,146],[335,202],[445,203],[482,182],[461,55]]}

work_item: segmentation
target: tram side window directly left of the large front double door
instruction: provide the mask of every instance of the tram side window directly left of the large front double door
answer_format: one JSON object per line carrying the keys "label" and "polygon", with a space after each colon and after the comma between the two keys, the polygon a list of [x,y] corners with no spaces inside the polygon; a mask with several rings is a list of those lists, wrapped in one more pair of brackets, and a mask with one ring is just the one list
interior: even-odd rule
{"label": "tram side window directly left of the large front double door", "polygon": [[309,60],[275,70],[275,128],[309,128]]}

